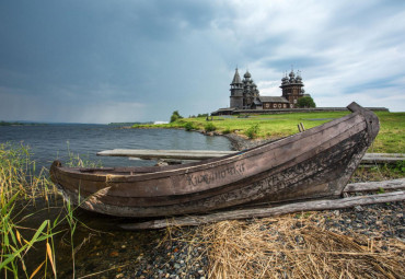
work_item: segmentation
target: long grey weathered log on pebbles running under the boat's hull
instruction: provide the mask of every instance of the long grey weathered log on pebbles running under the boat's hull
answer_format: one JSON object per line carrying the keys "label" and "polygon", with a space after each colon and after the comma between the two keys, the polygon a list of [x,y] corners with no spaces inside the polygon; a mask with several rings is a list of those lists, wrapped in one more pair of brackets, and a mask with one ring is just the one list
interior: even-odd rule
{"label": "long grey weathered log on pebbles running under the boat's hull", "polygon": [[266,218],[271,216],[280,216],[300,211],[317,211],[317,210],[333,210],[343,209],[356,206],[364,206],[381,202],[393,202],[405,200],[405,191],[393,191],[387,194],[372,195],[372,196],[357,196],[343,199],[333,200],[315,200],[289,204],[271,208],[256,208],[242,209],[218,212],[206,216],[189,216],[178,217],[173,219],[153,220],[142,223],[127,223],[120,224],[125,230],[144,230],[144,229],[163,229],[172,225],[200,225],[206,223],[219,222],[224,220],[240,220],[248,218]]}

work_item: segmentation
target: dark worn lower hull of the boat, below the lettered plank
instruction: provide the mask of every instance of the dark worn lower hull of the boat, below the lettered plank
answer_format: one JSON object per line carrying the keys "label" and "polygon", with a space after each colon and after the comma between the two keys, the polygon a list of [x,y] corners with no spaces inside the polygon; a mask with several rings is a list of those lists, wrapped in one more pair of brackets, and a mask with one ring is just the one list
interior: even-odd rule
{"label": "dark worn lower hull of the boat, below the lettered plank", "polygon": [[[340,147],[340,146],[339,146]],[[125,206],[125,200],[120,200],[120,206],[113,206],[100,202],[99,199],[86,200],[83,207],[103,213],[126,217],[154,217],[164,212],[167,216],[207,212],[215,209],[232,207],[241,204],[257,201],[286,201],[308,198],[321,198],[326,196],[338,197],[342,187],[336,183],[342,177],[347,164],[354,159],[352,154],[344,158],[339,154],[339,148],[327,150],[319,160],[306,160],[301,164],[271,175],[271,172],[264,173],[254,179],[243,179],[232,185],[232,189],[206,195],[205,198],[196,195],[196,200],[185,199],[184,202],[176,202],[169,206]],[[326,162],[333,162],[333,168]],[[344,186],[344,185],[343,185]]]}

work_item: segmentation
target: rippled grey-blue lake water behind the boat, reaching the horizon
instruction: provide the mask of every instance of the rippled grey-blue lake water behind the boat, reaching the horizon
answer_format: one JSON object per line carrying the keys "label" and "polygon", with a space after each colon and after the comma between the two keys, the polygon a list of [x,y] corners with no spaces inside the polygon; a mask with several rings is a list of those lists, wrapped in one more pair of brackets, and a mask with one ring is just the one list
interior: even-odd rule
{"label": "rippled grey-blue lake water behind the boat, reaching the horizon", "polygon": [[67,161],[69,151],[103,166],[153,165],[154,161],[97,156],[108,149],[231,150],[224,137],[175,129],[123,129],[108,125],[44,125],[0,127],[0,143],[28,146],[39,166],[49,167],[56,159]]}

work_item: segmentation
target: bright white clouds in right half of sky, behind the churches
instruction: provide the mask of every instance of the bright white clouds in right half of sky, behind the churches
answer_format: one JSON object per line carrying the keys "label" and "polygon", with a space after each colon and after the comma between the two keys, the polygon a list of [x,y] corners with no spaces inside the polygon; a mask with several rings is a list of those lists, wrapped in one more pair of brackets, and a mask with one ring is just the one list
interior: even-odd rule
{"label": "bright white clouds in right half of sky, behind the churches", "polygon": [[[405,111],[405,10],[384,1],[236,1],[222,20],[263,95],[280,95],[282,71],[302,70],[320,106]],[[230,26],[231,25],[231,26]]]}

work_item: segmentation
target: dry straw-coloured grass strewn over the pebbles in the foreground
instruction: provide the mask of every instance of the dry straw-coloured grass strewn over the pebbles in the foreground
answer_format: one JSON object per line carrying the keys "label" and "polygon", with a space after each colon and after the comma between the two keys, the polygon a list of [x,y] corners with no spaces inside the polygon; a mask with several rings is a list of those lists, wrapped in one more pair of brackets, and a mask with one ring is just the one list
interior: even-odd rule
{"label": "dry straw-coloured grass strewn over the pebbles in the foreground", "polygon": [[[317,213],[305,217],[311,214]],[[209,278],[403,278],[404,243],[350,237],[328,231],[320,220],[285,216],[200,226]]]}

